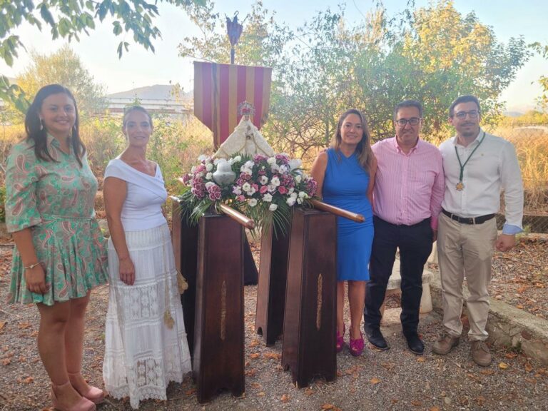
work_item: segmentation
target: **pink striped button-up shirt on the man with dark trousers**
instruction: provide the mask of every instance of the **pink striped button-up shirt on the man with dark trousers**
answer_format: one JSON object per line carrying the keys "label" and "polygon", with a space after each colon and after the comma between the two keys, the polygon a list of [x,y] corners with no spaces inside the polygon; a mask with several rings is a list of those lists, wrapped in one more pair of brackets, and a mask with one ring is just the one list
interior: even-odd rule
{"label": "pink striped button-up shirt on the man with dark trousers", "polygon": [[373,213],[396,225],[413,225],[432,217],[430,225],[437,230],[445,189],[438,148],[419,138],[406,154],[392,137],[378,141],[372,150],[377,158]]}

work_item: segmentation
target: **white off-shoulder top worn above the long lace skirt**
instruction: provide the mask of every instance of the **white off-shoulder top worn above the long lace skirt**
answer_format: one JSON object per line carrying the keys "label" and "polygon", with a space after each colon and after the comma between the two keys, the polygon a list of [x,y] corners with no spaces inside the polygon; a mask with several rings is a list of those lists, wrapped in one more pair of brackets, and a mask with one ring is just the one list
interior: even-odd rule
{"label": "white off-shoulder top worn above the long lace skirt", "polygon": [[106,166],[105,180],[108,177],[120,178],[127,183],[128,193],[121,213],[124,231],[148,230],[167,223],[161,205],[166,202],[168,192],[160,166],[156,165],[155,176],[148,176],[114,158]]}

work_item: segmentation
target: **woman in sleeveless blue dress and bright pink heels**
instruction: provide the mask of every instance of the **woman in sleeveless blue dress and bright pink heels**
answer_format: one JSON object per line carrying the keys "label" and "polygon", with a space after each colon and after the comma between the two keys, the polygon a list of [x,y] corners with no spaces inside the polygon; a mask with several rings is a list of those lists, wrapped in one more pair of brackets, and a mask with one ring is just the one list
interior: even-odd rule
{"label": "woman in sleeveless blue dress and bright pink heels", "polygon": [[369,258],[373,240],[372,192],[377,162],[371,151],[371,135],[365,117],[350,109],[339,118],[333,143],[315,159],[312,176],[318,182],[323,201],[360,213],[364,223],[347,218],[337,220],[337,351],[345,345],[345,281],[350,303],[350,354],[361,355],[360,332],[365,281],[369,280]]}

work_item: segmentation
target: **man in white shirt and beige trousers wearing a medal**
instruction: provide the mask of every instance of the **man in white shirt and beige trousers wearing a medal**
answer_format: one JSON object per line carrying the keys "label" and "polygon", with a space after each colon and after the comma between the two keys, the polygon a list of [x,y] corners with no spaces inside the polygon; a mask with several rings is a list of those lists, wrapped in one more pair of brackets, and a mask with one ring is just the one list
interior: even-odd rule
{"label": "man in white shirt and beige trousers wearing a medal", "polygon": [[[462,333],[462,282],[467,278],[467,300],[472,358],[491,363],[487,340],[488,285],[493,248],[510,250],[522,231],[523,185],[512,143],[480,128],[480,102],[460,96],[450,106],[449,121],[457,135],[440,145],[445,171],[445,197],[440,213],[437,250],[443,290],[445,333],[432,350],[440,355],[458,345]],[[494,214],[504,191],[505,223],[497,234]]]}

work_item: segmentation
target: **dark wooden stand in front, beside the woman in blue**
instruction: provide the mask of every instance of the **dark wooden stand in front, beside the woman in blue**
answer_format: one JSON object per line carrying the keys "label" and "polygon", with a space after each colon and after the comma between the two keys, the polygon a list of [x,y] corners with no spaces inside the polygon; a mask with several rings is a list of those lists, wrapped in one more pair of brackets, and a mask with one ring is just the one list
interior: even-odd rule
{"label": "dark wooden stand in front, beside the woman in blue", "polygon": [[335,380],[337,221],[314,209],[293,210],[285,293],[282,365],[305,387]]}

